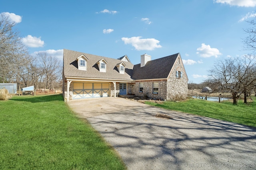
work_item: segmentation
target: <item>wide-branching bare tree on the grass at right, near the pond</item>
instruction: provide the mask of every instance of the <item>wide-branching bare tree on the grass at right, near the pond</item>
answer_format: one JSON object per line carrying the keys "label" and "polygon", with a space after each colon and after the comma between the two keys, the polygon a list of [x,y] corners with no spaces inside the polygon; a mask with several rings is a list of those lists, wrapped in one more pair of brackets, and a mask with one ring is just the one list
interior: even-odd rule
{"label": "wide-branching bare tree on the grass at right, near the pond", "polygon": [[[252,89],[256,82],[255,60],[253,55],[219,60],[208,71],[208,81],[217,83],[224,91],[231,92],[233,104],[237,104],[237,98]],[[246,96],[244,102],[247,102]]]}

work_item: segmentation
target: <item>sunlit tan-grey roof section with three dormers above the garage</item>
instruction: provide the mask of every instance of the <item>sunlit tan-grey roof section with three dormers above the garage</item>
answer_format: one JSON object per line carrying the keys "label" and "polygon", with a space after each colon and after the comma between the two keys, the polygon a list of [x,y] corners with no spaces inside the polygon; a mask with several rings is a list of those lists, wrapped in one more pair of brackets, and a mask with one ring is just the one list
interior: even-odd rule
{"label": "sunlit tan-grey roof section with three dormers above the garage", "polygon": [[[84,55],[88,59],[86,71],[78,70],[78,63],[76,61],[76,58],[80,55]],[[106,61],[108,61],[108,64],[106,64],[106,72],[100,72],[98,64],[96,64],[101,59],[105,59]],[[133,64],[126,61],[122,62],[126,64],[125,74],[120,74],[118,72],[118,69],[116,68],[116,64],[120,63],[120,60],[118,59],[111,59],[108,57],[80,53],[67,49],[63,50],[64,76],[132,80],[131,75]]]}

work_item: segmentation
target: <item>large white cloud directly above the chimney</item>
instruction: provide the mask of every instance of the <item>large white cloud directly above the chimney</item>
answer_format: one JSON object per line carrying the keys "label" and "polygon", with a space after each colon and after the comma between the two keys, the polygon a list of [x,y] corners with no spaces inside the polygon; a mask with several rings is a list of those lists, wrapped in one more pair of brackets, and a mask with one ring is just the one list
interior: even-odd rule
{"label": "large white cloud directly above the chimney", "polygon": [[161,45],[158,45],[160,41],[154,38],[148,38],[148,39],[140,39],[141,37],[122,37],[122,41],[124,41],[124,44],[131,44],[133,47],[135,47],[136,50],[154,50],[155,48],[161,48]]}

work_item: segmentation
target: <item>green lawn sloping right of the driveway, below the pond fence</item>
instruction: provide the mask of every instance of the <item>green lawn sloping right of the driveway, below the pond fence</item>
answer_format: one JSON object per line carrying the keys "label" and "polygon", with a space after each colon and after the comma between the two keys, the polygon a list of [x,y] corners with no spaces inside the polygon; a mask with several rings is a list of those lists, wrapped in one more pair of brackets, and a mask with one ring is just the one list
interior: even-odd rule
{"label": "green lawn sloping right of the driveway, below the pond fence", "polygon": [[252,99],[255,102],[244,104],[243,100],[239,100],[238,105],[233,105],[232,101],[218,103],[198,99],[188,99],[184,102],[164,102],[162,104],[154,102],[145,103],[164,109],[182,111],[256,127],[256,98],[254,97]]}

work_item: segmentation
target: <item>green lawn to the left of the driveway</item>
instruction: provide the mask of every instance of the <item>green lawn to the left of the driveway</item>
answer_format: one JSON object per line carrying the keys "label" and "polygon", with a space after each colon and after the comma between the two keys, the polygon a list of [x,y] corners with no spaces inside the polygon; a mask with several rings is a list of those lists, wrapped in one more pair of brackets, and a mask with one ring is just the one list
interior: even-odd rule
{"label": "green lawn to the left of the driveway", "polygon": [[0,101],[0,169],[122,170],[124,163],[61,95]]}

